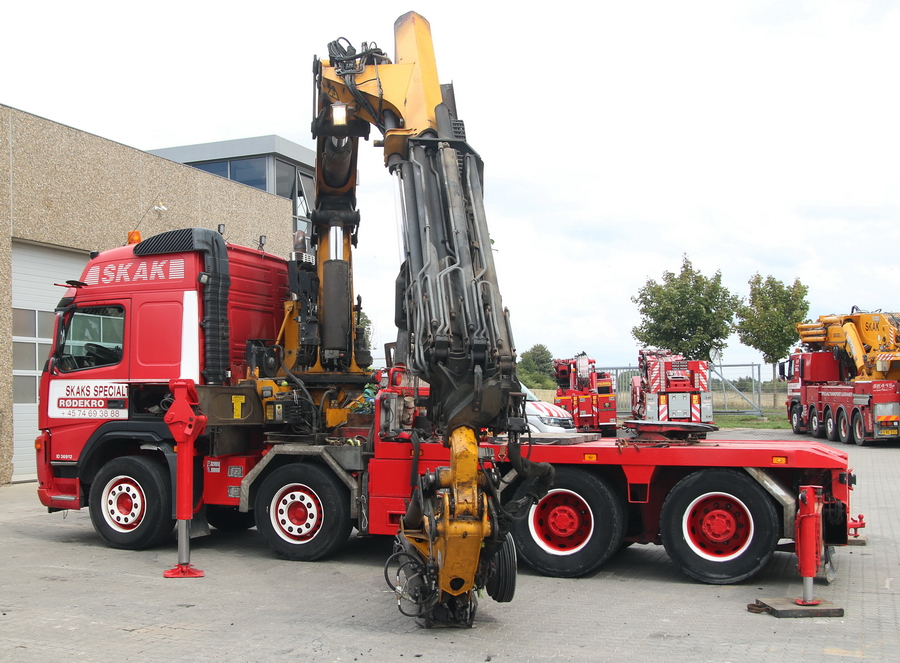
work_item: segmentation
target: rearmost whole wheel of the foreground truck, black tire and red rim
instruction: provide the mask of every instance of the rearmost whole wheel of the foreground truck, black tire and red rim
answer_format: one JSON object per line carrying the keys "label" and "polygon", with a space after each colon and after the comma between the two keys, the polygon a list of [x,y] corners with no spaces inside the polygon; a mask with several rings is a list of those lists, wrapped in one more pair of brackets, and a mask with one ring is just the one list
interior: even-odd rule
{"label": "rearmost whole wheel of the foreground truck, black tire and red rim", "polygon": [[775,503],[749,475],[700,470],[663,503],[660,537],[669,558],[701,582],[726,585],[755,575],[780,538]]}

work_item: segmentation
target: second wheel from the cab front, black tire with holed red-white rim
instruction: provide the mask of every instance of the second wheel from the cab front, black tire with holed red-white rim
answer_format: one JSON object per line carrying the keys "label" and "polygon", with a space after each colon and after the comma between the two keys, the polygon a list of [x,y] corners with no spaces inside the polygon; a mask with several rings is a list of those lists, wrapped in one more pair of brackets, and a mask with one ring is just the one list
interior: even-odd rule
{"label": "second wheel from the cab front, black tire with holed red-white rim", "polygon": [[328,469],[291,463],[262,482],[256,494],[256,529],[287,559],[311,562],[350,538],[350,495]]}

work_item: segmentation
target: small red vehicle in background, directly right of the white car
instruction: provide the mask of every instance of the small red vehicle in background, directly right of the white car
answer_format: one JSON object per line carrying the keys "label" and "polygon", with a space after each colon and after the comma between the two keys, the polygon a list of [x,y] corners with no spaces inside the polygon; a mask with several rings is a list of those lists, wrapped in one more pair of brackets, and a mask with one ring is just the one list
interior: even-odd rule
{"label": "small red vehicle in background, directly right of the white car", "polygon": [[554,404],[571,413],[582,433],[616,436],[616,392],[609,373],[598,371],[585,353],[571,359],[554,359],[556,398]]}

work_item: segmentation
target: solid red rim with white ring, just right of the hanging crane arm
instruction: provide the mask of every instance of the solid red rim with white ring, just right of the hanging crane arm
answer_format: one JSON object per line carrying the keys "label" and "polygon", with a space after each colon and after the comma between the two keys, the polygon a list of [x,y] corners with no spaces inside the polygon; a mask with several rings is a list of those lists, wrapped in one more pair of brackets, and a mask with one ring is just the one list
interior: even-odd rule
{"label": "solid red rim with white ring, just right of the hanging crane arm", "polygon": [[581,550],[594,532],[594,518],[587,502],[570,490],[551,490],[531,507],[528,527],[535,542],[552,555],[571,555]]}

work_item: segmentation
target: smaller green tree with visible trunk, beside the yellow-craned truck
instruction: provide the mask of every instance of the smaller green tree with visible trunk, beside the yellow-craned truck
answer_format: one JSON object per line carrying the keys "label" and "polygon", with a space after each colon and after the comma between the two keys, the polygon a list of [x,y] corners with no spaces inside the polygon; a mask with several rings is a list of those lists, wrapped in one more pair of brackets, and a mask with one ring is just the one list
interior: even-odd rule
{"label": "smaller green tree with visible trunk, beside the yellow-craned truck", "polygon": [[[763,361],[772,364],[772,382],[775,382],[775,364],[790,352],[799,340],[797,323],[806,319],[809,288],[794,279],[787,287],[776,278],[763,280],[757,272],[749,281],[750,298],[737,310],[737,333],[741,343],[759,350]],[[775,406],[775,393],[772,405]]]}

